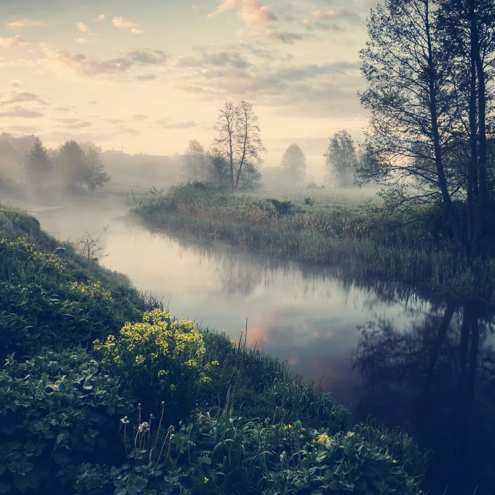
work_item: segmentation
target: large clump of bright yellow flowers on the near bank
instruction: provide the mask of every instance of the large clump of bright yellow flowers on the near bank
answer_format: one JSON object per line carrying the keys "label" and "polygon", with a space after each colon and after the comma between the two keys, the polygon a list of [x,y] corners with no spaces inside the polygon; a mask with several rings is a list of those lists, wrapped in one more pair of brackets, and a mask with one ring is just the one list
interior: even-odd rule
{"label": "large clump of bright yellow flowers on the near bank", "polygon": [[143,321],[127,322],[118,336],[94,346],[144,404],[164,400],[175,415],[189,414],[198,388],[210,381],[201,332],[194,322],[172,319],[161,309],[145,312]]}

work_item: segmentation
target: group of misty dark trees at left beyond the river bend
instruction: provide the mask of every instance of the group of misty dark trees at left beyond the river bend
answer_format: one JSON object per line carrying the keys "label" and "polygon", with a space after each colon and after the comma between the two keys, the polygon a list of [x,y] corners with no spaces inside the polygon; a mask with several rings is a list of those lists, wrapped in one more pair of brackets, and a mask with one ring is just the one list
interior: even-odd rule
{"label": "group of misty dark trees at left beyond the river bend", "polygon": [[93,143],[79,144],[71,139],[50,156],[42,140],[36,137],[26,163],[27,181],[39,187],[53,184],[72,192],[86,186],[94,193],[110,180],[100,151]]}

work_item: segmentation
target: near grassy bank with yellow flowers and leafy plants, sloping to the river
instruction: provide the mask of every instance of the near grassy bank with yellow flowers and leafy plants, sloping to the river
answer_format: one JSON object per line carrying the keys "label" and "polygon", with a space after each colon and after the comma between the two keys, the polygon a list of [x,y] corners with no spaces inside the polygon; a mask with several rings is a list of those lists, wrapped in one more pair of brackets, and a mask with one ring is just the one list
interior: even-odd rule
{"label": "near grassy bank with yellow flowers and leafy plants, sloping to the river", "polygon": [[0,493],[418,493],[405,434],[0,209]]}

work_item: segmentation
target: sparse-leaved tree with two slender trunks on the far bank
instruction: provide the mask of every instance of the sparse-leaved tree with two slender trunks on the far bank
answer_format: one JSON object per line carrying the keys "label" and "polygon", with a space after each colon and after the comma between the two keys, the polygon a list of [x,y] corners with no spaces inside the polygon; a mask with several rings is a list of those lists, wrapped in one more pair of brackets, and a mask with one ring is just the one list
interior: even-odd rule
{"label": "sparse-leaved tree with two slender trunks on the far bank", "polygon": [[[243,167],[250,162],[251,172],[254,163],[261,164],[261,154],[266,151],[260,138],[258,117],[252,104],[242,100],[237,105],[225,103],[220,109],[215,126],[217,136],[215,148],[221,150],[229,162],[230,183],[237,190],[241,181]],[[250,173],[245,174],[250,176]]]}

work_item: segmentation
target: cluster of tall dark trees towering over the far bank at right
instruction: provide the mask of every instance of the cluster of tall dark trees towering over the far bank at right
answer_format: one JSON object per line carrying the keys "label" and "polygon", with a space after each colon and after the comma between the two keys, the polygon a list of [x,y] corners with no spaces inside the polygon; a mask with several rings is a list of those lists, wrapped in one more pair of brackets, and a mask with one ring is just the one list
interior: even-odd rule
{"label": "cluster of tall dark trees towering over the far bank at right", "polygon": [[[479,253],[487,208],[494,11],[488,0],[387,0],[371,11],[361,51],[367,147],[379,166],[360,174],[392,186],[390,208],[442,202],[457,245],[471,254]],[[458,199],[466,199],[467,229]]]}

